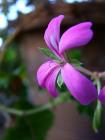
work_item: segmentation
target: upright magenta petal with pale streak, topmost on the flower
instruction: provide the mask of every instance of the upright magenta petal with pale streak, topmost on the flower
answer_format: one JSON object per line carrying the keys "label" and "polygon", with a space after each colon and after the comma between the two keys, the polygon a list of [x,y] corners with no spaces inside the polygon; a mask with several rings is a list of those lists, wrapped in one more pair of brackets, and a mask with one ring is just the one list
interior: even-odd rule
{"label": "upright magenta petal with pale streak, topmost on the flower", "polygon": [[60,24],[63,18],[63,15],[53,18],[44,34],[46,44],[55,54],[59,54]]}

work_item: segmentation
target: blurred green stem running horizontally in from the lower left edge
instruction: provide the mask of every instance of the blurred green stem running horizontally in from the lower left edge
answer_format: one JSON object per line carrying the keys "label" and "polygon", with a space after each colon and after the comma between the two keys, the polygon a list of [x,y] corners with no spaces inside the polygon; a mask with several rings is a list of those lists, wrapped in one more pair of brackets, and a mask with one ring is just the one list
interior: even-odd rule
{"label": "blurred green stem running horizontally in from the lower left edge", "polygon": [[9,108],[9,107],[6,107],[6,106],[0,104],[0,110],[8,112],[8,113],[13,114],[13,115],[17,115],[17,116],[26,116],[26,115],[32,115],[32,114],[36,114],[36,113],[45,111],[47,109],[54,108],[55,106],[67,101],[67,99],[68,99],[68,94],[63,94],[63,95],[57,97],[56,99],[54,99],[52,102],[49,102],[45,105],[41,105],[38,108],[31,109],[28,111]]}

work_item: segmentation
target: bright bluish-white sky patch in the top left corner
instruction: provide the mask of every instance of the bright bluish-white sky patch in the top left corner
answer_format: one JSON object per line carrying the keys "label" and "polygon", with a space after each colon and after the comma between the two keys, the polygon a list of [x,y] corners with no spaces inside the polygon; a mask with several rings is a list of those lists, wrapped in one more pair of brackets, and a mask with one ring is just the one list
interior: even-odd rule
{"label": "bright bluish-white sky patch in the top left corner", "polygon": [[[10,0],[8,0],[10,1]],[[0,12],[0,29],[4,29],[8,25],[8,20],[15,20],[18,17],[17,12],[21,12],[23,14],[28,14],[35,10],[34,5],[26,6],[28,0],[18,0],[16,4],[13,4],[9,8],[9,13],[7,14],[7,17]],[[0,3],[2,3],[2,0],[0,0]]]}

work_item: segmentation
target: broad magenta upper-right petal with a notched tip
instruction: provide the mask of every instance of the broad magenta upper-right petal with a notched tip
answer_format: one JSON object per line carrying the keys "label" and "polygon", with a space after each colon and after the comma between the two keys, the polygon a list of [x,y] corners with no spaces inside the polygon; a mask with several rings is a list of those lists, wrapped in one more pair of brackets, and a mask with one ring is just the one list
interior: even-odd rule
{"label": "broad magenta upper-right petal with a notched tip", "polygon": [[62,54],[67,49],[86,45],[93,36],[91,26],[91,22],[83,22],[69,28],[60,39],[60,53]]}

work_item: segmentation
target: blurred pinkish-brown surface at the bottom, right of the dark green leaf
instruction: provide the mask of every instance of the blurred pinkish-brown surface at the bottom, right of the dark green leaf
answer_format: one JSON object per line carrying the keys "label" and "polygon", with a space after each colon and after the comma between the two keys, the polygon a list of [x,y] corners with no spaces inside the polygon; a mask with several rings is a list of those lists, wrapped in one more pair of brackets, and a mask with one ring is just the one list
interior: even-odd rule
{"label": "blurred pinkish-brown surface at the bottom, right of the dark green leaf", "polygon": [[105,140],[104,132],[95,134],[87,116],[80,115],[73,103],[63,104],[55,110],[55,123],[47,140]]}

